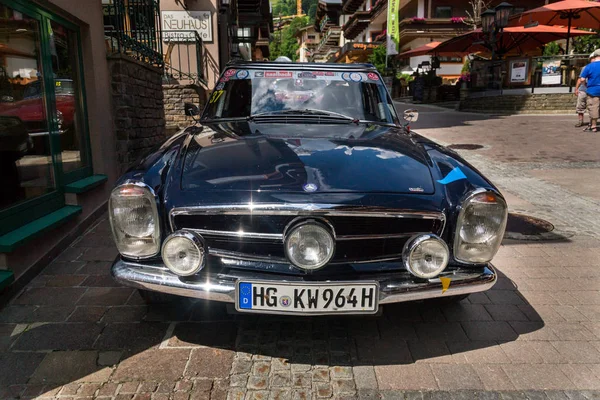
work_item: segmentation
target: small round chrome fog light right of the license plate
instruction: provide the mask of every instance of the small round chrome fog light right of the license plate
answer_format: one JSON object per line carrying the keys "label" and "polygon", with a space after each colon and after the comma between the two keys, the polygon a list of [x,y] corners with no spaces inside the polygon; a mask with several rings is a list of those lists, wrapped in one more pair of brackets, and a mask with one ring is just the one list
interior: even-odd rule
{"label": "small round chrome fog light right of the license plate", "polygon": [[408,272],[418,278],[430,279],[446,268],[450,251],[436,235],[420,235],[406,242],[402,258]]}

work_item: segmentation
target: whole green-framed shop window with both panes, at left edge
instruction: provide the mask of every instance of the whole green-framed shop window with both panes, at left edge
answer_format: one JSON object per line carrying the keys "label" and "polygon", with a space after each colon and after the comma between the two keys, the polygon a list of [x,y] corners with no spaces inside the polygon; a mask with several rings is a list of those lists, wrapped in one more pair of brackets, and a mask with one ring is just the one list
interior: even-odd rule
{"label": "whole green-framed shop window with both panes, at left edge", "polygon": [[0,0],[0,235],[64,205],[91,175],[76,25]]}

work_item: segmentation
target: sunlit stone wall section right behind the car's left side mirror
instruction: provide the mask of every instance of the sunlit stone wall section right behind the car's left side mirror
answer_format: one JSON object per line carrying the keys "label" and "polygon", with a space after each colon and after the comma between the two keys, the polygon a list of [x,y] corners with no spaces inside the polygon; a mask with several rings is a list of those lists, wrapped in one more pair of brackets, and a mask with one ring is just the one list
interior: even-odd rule
{"label": "sunlit stone wall section right behind the car's left side mirror", "polygon": [[200,111],[204,108],[206,94],[204,89],[199,86],[165,84],[163,93],[168,136],[194,123],[191,117],[185,115],[184,103],[195,104]]}

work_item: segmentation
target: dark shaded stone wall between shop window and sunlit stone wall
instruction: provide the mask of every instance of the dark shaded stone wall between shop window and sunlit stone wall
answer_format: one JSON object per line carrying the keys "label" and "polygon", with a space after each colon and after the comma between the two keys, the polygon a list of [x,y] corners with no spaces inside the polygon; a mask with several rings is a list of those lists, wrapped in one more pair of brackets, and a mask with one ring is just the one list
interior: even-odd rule
{"label": "dark shaded stone wall between shop window and sunlit stone wall", "polygon": [[127,56],[109,56],[119,173],[166,138],[162,71]]}

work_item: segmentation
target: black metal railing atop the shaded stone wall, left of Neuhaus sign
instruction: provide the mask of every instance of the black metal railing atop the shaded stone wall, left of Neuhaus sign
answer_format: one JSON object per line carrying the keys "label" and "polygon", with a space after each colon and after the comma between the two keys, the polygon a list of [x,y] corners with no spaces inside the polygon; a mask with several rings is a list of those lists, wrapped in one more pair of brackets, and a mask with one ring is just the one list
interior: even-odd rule
{"label": "black metal railing atop the shaded stone wall, left of Neuhaus sign", "polygon": [[104,36],[110,54],[163,66],[160,8],[156,0],[109,0],[102,4]]}

